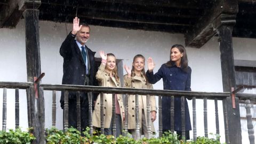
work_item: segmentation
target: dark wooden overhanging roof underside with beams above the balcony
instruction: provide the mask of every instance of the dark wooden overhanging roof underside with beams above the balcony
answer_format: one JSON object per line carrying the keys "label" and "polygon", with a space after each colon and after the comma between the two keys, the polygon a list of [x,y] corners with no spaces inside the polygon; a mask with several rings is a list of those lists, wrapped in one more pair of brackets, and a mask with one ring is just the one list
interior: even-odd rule
{"label": "dark wooden overhanging roof underside with beams above the balcony", "polygon": [[77,15],[89,25],[185,34],[192,47],[216,35],[220,14],[231,14],[233,36],[256,38],[254,0],[0,0],[0,27],[15,27],[28,8],[39,10],[39,20],[71,23]]}

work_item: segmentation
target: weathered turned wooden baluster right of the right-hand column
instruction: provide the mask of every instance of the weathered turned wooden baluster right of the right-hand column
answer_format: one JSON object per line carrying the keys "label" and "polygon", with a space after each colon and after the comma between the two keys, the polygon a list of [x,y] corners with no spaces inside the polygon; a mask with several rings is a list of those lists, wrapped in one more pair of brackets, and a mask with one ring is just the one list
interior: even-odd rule
{"label": "weathered turned wooden baluster right of the right-hand column", "polygon": [[249,99],[245,100],[246,118],[247,118],[247,129],[250,144],[254,144],[254,130],[252,124],[252,114],[251,114],[251,101]]}

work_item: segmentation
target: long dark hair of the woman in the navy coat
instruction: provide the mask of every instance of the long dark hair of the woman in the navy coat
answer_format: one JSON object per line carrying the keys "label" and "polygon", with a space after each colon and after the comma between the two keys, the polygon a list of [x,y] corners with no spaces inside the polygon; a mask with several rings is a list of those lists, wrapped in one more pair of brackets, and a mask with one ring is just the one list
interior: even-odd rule
{"label": "long dark hair of the woman in the navy coat", "polygon": [[187,57],[187,52],[186,52],[186,49],[185,49],[185,47],[183,46],[183,45],[181,45],[181,44],[174,44],[172,47],[171,47],[171,50],[170,50],[170,60],[169,61],[167,61],[166,63],[165,63],[165,65],[167,66],[167,67],[172,67],[173,65],[175,65],[175,62],[174,61],[172,61],[172,59],[171,59],[171,51],[172,51],[172,49],[173,48],[177,48],[179,51],[180,51],[180,53],[183,53],[183,56],[181,57],[181,62],[180,62],[180,68],[183,70],[183,71],[188,71],[188,57]]}

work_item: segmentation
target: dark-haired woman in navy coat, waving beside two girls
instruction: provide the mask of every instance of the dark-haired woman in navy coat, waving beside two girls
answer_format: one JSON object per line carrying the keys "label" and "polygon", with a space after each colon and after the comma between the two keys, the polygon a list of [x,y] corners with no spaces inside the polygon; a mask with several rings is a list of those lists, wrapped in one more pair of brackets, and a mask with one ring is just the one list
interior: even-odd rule
{"label": "dark-haired woman in navy coat, waving beside two girls", "polygon": [[[188,66],[186,49],[175,44],[171,47],[170,61],[164,63],[157,73],[153,73],[155,63],[152,58],[148,59],[148,71],[146,73],[148,81],[155,84],[163,78],[164,90],[191,91],[191,68]],[[169,95],[170,96],[170,95]],[[171,130],[171,97],[162,98],[162,117],[163,132]],[[186,120],[186,137],[181,135],[181,98],[174,98],[174,131],[181,137],[189,139],[191,130],[188,103],[185,99],[185,120]],[[179,139],[181,138],[179,137]]]}

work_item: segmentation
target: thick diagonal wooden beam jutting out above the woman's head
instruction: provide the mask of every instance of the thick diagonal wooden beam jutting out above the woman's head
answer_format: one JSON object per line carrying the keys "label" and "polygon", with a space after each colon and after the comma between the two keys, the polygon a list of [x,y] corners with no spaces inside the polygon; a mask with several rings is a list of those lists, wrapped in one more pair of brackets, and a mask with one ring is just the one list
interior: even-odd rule
{"label": "thick diagonal wooden beam jutting out above the woman's head", "polygon": [[[185,45],[201,47],[215,34],[222,22],[234,22],[238,12],[237,0],[218,0],[205,16],[185,34]],[[224,20],[224,21],[223,21]]]}

